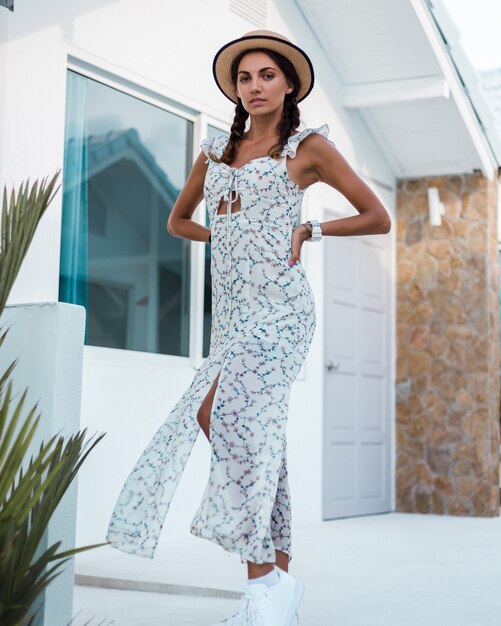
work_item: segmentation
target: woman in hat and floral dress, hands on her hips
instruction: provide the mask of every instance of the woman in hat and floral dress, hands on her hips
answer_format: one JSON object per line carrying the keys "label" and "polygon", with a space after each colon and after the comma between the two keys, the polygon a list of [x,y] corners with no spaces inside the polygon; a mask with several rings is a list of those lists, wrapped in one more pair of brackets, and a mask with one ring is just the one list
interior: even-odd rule
{"label": "woman in hat and floral dress, hands on her hips", "polygon": [[[297,132],[297,104],[314,82],[304,51],[278,33],[252,31],[223,46],[213,69],[236,104],[231,134],[202,142],[167,224],[178,237],[210,242],[210,352],[127,478],[107,539],[153,556],[201,428],[211,468],[190,530],[239,554],[248,570],[240,610],[220,623],[291,626],[303,585],[288,574],[285,431],[290,387],[316,324],[301,248],[322,236],[388,233],[391,222],[327,139],[327,125]],[[304,190],[320,181],[359,215],[294,227]],[[191,219],[204,196],[210,228]]]}

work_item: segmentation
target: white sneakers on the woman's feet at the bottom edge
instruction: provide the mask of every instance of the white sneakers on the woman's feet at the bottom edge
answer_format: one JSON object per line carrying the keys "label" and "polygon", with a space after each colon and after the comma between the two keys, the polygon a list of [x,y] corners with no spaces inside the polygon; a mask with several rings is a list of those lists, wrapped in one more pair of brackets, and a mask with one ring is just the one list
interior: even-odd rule
{"label": "white sneakers on the woman's feet at the bottom edge", "polygon": [[279,582],[272,587],[261,584],[246,585],[240,601],[240,610],[219,622],[224,626],[296,626],[297,608],[304,593],[304,585],[290,574],[275,568]]}

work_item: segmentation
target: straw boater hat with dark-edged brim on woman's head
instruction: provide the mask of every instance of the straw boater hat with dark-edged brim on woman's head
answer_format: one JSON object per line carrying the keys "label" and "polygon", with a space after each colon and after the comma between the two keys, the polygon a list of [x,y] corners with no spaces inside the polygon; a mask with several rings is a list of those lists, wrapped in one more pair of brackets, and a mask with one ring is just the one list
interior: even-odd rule
{"label": "straw boater hat with dark-edged brim on woman's head", "polygon": [[231,64],[233,60],[245,50],[253,48],[267,48],[279,52],[294,66],[301,87],[297,95],[297,101],[304,100],[313,89],[315,76],[313,66],[308,55],[293,44],[287,37],[275,33],[272,30],[251,30],[239,39],[233,39],[225,44],[214,57],[212,72],[219,89],[224,95],[236,104],[237,93],[231,80]]}

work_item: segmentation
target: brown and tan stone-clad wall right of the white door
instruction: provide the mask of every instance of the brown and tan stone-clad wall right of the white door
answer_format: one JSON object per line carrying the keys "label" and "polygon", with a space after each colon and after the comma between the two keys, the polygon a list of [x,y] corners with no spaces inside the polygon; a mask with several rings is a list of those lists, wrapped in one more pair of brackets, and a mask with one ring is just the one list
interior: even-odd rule
{"label": "brown and tan stone-clad wall right of the white door", "polygon": [[399,181],[397,511],[499,515],[496,204],[480,174]]}

